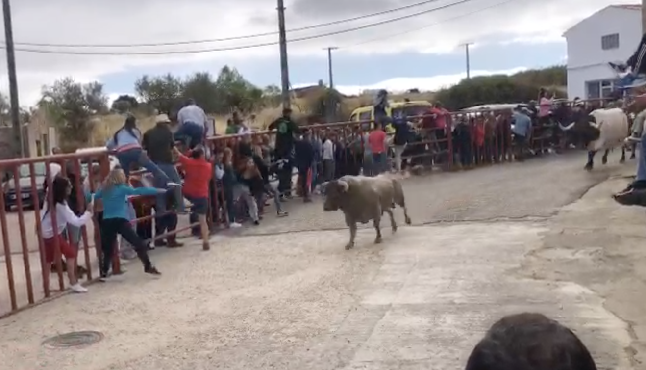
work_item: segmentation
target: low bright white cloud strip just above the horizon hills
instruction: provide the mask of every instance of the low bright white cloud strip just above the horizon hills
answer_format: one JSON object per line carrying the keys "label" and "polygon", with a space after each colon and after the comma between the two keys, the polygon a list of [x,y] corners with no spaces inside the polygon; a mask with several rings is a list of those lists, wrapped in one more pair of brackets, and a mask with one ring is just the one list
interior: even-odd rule
{"label": "low bright white cloud strip just above the horizon hills", "polygon": [[[504,71],[471,71],[471,76],[490,76],[492,74],[514,74],[526,71],[526,67],[517,67]],[[344,86],[337,85],[335,88],[342,94],[358,95],[365,90],[386,89],[390,92],[404,92],[410,89],[419,89],[420,91],[437,91],[443,87],[450,87],[466,78],[466,72],[459,74],[446,74],[443,76],[421,77],[421,78],[391,78],[373,85],[364,86]],[[313,83],[299,84],[294,87],[305,87],[314,85]]]}

